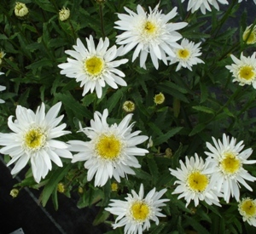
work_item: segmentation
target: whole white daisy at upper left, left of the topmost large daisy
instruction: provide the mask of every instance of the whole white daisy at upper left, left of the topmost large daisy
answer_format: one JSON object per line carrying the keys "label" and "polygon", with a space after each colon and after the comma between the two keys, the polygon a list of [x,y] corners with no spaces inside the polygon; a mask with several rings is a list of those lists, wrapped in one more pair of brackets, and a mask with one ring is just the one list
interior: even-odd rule
{"label": "whole white daisy at upper left, left of the topmost large daisy", "polygon": [[128,60],[115,60],[121,49],[117,49],[115,45],[108,49],[108,37],[100,41],[95,46],[92,36],[86,38],[87,49],[81,40],[77,39],[77,44],[73,46],[75,50],[66,50],[65,53],[71,55],[74,59],[67,58],[67,63],[62,63],[59,67],[62,69],[61,74],[70,78],[75,78],[80,82],[80,87],[84,86],[83,96],[96,89],[98,98],[102,97],[102,87],[106,83],[112,88],[118,88],[117,84],[126,86],[126,82],[122,77],[125,74],[117,69],[121,64],[125,64]]}

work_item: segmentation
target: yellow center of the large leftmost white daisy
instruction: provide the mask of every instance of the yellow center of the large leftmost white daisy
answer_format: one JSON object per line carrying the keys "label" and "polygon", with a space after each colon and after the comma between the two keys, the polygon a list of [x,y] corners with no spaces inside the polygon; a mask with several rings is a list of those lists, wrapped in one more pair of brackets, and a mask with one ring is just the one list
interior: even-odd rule
{"label": "yellow center of the large leftmost white daisy", "polygon": [[37,151],[45,145],[46,135],[42,128],[31,128],[26,132],[24,145],[32,151]]}

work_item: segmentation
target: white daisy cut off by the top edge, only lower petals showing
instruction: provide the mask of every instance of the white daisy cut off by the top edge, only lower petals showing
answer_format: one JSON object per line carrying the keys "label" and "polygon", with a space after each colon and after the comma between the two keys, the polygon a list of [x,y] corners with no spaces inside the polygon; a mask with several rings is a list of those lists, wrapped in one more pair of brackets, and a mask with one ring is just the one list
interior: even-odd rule
{"label": "white daisy cut off by the top edge, only lower petals showing", "polygon": [[[182,3],[185,0],[182,0]],[[219,10],[218,3],[229,4],[227,0],[189,0],[187,11],[191,9],[191,12],[194,13],[196,10],[201,9],[202,14],[206,14],[206,10],[212,11],[211,5]]]}

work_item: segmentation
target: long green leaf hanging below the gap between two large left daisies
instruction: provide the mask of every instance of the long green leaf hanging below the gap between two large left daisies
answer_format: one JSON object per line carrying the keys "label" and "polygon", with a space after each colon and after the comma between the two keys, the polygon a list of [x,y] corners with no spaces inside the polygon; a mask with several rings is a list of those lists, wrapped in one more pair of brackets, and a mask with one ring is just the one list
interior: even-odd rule
{"label": "long green leaf hanging below the gap between two large left daisies", "polygon": [[46,203],[49,200],[49,197],[54,192],[58,183],[64,178],[68,170],[72,167],[72,164],[69,163],[64,165],[63,168],[56,168],[55,171],[50,175],[48,183],[44,186],[42,191],[42,205],[45,207]]}

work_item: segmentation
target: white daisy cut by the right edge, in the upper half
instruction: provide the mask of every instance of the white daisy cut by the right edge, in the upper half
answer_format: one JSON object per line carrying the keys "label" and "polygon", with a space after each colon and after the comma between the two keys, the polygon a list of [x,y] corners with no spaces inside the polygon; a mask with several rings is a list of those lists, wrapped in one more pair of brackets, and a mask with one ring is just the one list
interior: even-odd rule
{"label": "white daisy cut by the right edge, in the upper half", "polygon": [[240,60],[233,54],[230,55],[235,64],[226,66],[233,73],[233,82],[239,82],[239,85],[252,84],[256,88],[256,52],[251,57],[245,57],[242,53]]}

